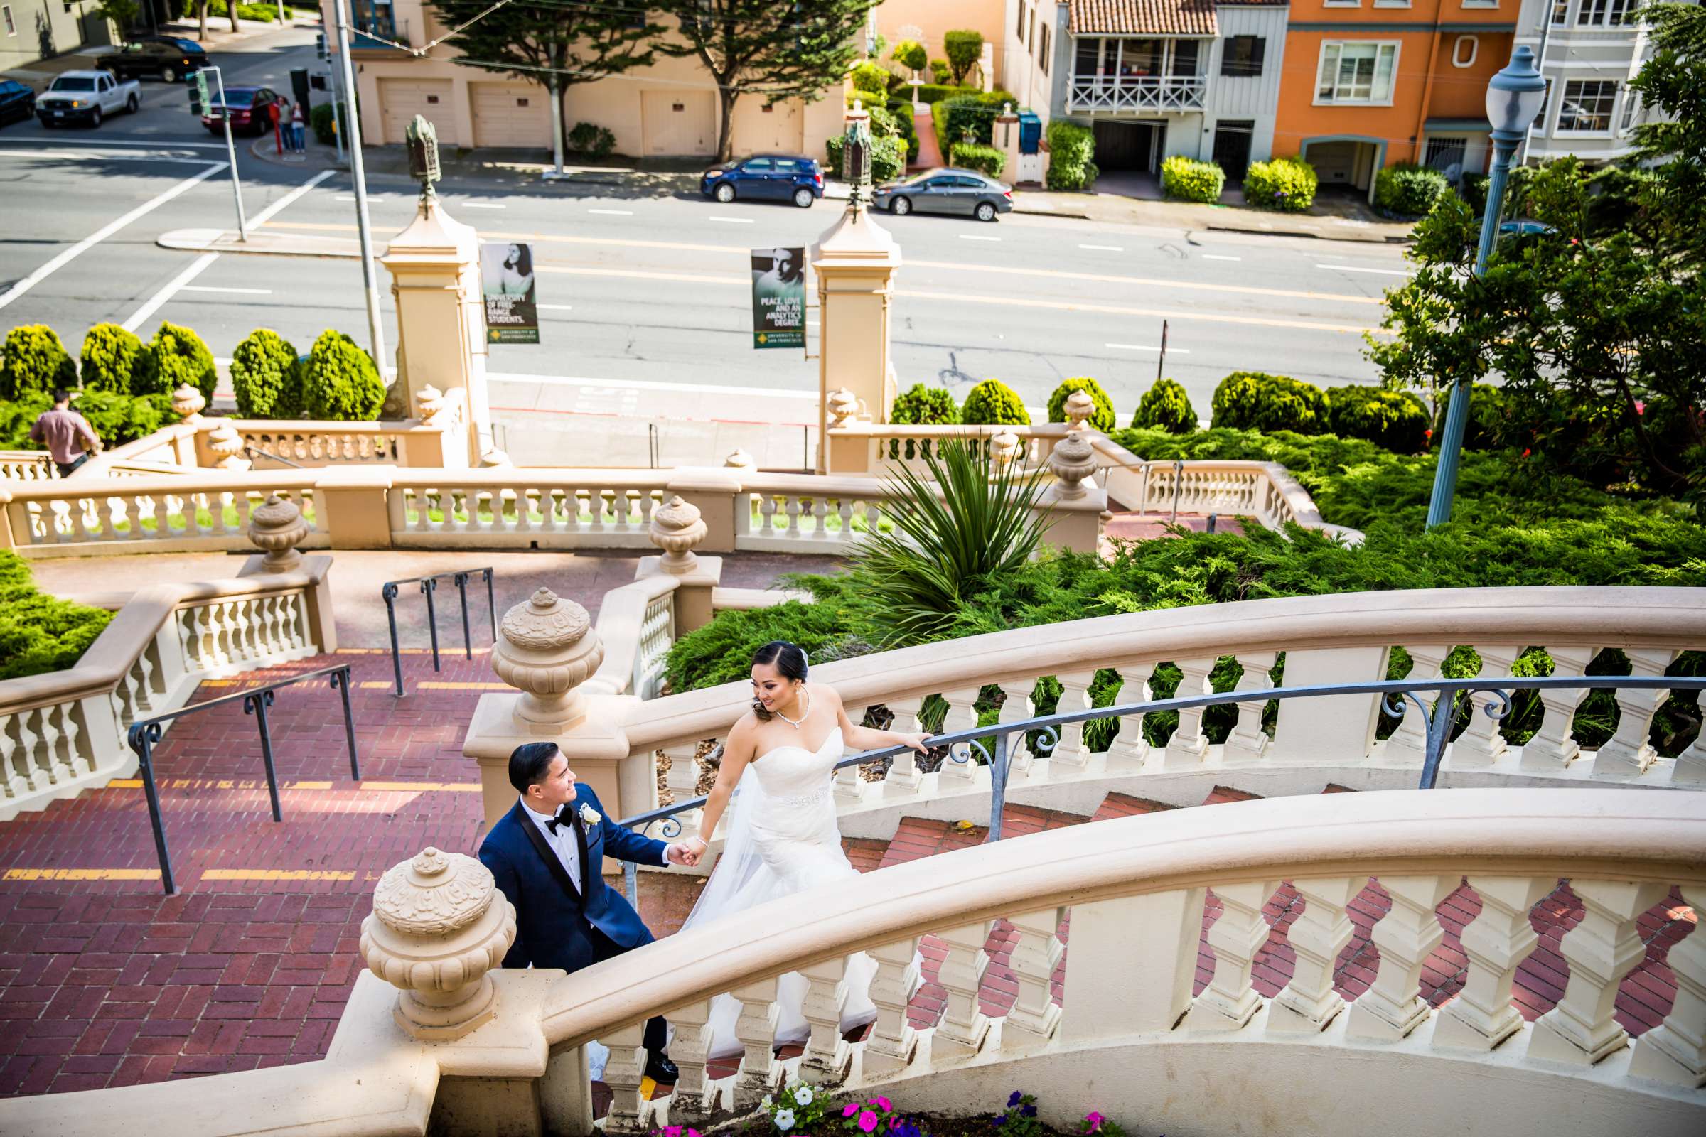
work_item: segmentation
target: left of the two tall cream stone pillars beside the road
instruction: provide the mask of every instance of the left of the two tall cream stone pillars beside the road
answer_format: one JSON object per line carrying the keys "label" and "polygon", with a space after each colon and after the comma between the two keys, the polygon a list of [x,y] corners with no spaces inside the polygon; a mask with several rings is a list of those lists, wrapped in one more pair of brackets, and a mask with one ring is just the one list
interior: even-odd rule
{"label": "left of the two tall cream stone pillars beside the road", "polygon": [[491,442],[479,237],[473,225],[452,218],[433,198],[391,239],[380,261],[391,269],[391,295],[397,305],[401,402],[416,406],[426,387],[444,394],[462,390],[467,409],[462,465],[473,465]]}

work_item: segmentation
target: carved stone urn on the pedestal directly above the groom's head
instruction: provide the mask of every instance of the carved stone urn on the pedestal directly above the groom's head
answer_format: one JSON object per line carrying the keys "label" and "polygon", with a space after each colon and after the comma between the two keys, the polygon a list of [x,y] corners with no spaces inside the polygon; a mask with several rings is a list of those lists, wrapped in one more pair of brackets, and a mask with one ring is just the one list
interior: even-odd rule
{"label": "carved stone urn on the pedestal directly above the groom's head", "polygon": [[604,641],[592,631],[587,610],[549,588],[505,612],[491,646],[491,670],[522,690],[515,718],[534,735],[553,735],[580,719],[575,687],[602,661]]}

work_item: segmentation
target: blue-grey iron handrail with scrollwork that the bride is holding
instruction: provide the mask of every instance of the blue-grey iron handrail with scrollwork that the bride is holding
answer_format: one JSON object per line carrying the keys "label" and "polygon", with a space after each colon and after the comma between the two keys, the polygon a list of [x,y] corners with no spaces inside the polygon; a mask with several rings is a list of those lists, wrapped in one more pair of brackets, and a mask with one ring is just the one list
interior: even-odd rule
{"label": "blue-grey iron handrail with scrollwork that the bride is holding", "polygon": [[[947,747],[949,753],[943,762],[972,762],[981,759],[981,764],[989,765],[989,835],[988,840],[1001,839],[1001,813],[1007,805],[1007,779],[1012,765],[1013,755],[1013,735],[1022,740],[1027,735],[1039,735],[1032,743],[1036,753],[1047,755],[1059,743],[1059,733],[1063,726],[1073,723],[1088,723],[1094,719],[1107,718],[1126,718],[1129,714],[1155,714],[1158,711],[1191,711],[1199,707],[1216,707],[1228,702],[1266,702],[1269,699],[1310,699],[1320,695],[1380,695],[1382,709],[1387,714],[1402,719],[1409,707],[1414,707],[1423,721],[1426,723],[1426,750],[1421,762],[1421,779],[1419,789],[1433,789],[1440,776],[1440,762],[1445,759],[1445,747],[1452,736],[1452,724],[1457,721],[1459,709],[1462,707],[1460,697],[1484,694],[1489,695],[1486,704],[1486,714],[1491,719],[1503,719],[1510,714],[1513,690],[1583,690],[1583,689],[1622,689],[1622,690],[1668,690],[1672,694],[1682,690],[1706,690],[1706,677],[1684,678],[1672,675],[1547,675],[1534,678],[1426,678],[1426,680],[1407,680],[1392,678],[1373,684],[1332,684],[1319,687],[1271,687],[1266,690],[1227,690],[1211,695],[1187,695],[1182,699],[1152,699],[1148,702],[1128,702],[1111,707],[1092,707],[1088,711],[1071,711],[1066,714],[1044,714],[1037,718],[1020,719],[1013,723],[989,723],[988,726],[974,726],[971,730],[955,731],[952,735],[935,735],[928,740],[931,750],[940,750]],[[1433,699],[1423,699],[1423,695],[1431,694]],[[1706,730],[1706,724],[1703,724]],[[983,740],[995,740],[995,750],[989,752],[983,745]],[[865,750],[863,753],[855,753],[851,757],[836,762],[834,769],[841,771],[850,765],[863,765],[867,762],[879,762],[882,759],[891,759],[908,747],[884,747],[880,750]],[[827,789],[827,786],[826,786]],[[657,837],[670,839],[679,837],[682,832],[681,815],[693,810],[703,808],[706,803],[705,796],[693,798],[689,801],[677,801],[674,805],[664,806],[660,810],[650,810],[647,813],[636,813],[635,817],[623,818],[618,825],[624,825],[636,832],[647,832],[653,825],[657,827]],[[628,900],[638,903],[640,878],[635,864],[631,861],[623,864],[626,876]]]}

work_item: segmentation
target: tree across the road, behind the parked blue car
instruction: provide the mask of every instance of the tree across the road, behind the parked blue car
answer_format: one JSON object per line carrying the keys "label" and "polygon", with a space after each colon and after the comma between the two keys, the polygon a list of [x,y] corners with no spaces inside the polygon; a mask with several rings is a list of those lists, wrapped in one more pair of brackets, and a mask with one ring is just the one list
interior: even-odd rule
{"label": "tree across the road, behind the parked blue car", "polygon": [[734,157],[735,104],[761,95],[764,106],[788,99],[815,102],[860,55],[875,0],[665,0],[655,7],[681,22],[681,39],[657,44],[664,55],[698,58],[717,82],[722,123],[717,159]]}

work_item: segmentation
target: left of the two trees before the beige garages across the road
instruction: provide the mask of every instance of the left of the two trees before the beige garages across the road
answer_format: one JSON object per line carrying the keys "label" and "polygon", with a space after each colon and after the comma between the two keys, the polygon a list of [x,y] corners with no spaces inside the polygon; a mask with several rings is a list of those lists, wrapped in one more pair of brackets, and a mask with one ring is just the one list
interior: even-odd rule
{"label": "left of the two trees before the beige garages across the road", "polygon": [[[447,27],[461,27],[491,0],[428,0]],[[631,3],[507,3],[457,32],[457,63],[544,84],[551,95],[551,150],[563,170],[563,89],[647,66],[662,34]]]}

